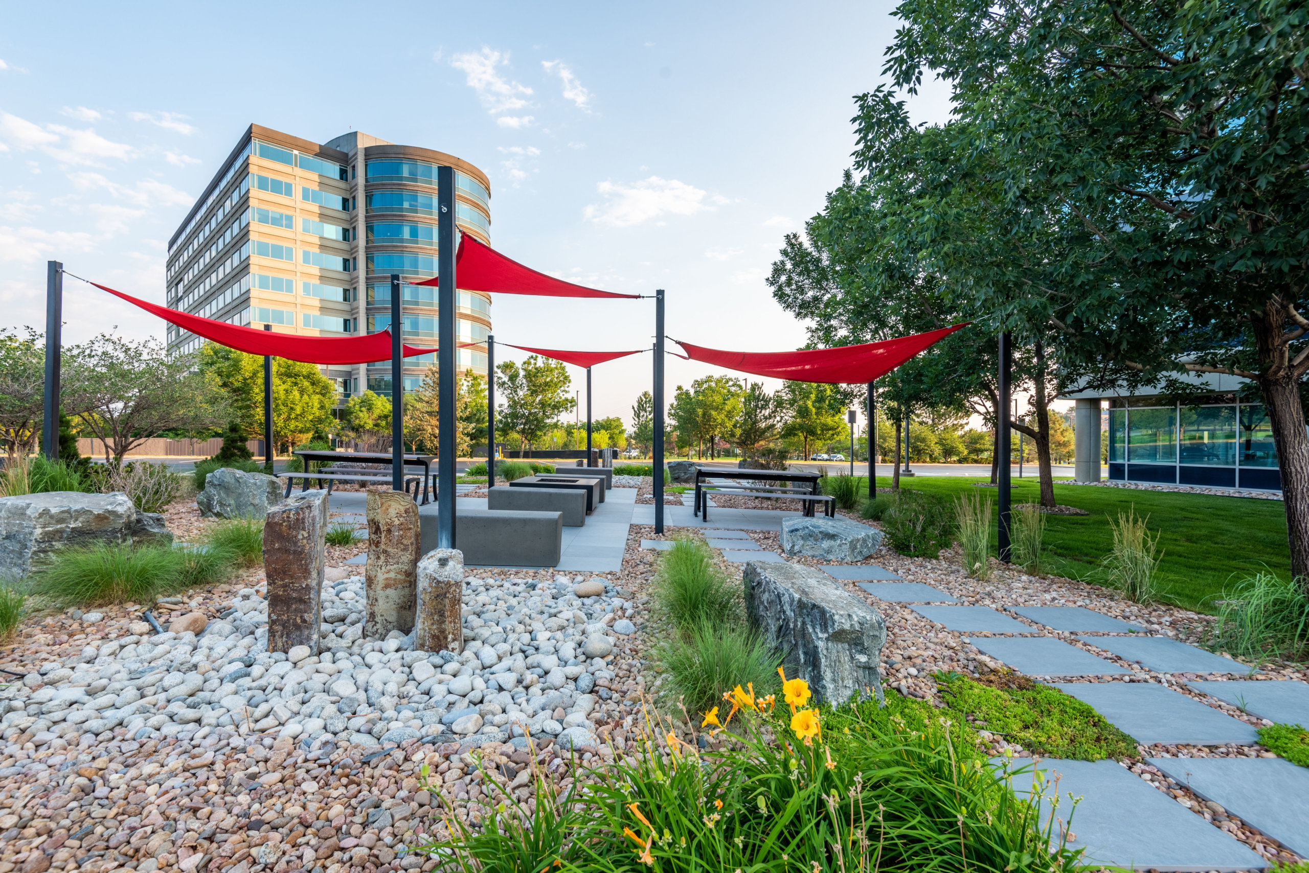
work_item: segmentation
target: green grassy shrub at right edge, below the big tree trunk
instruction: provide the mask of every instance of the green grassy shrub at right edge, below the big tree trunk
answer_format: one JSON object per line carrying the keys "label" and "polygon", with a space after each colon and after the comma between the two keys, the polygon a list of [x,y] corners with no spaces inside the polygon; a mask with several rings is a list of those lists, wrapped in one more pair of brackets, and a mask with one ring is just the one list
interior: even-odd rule
{"label": "green grassy shrub at right edge, below the big tree trunk", "polygon": [[1309,597],[1299,582],[1257,572],[1223,592],[1206,643],[1241,657],[1309,656]]}

